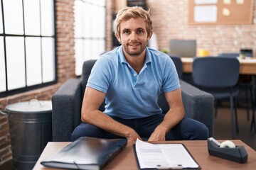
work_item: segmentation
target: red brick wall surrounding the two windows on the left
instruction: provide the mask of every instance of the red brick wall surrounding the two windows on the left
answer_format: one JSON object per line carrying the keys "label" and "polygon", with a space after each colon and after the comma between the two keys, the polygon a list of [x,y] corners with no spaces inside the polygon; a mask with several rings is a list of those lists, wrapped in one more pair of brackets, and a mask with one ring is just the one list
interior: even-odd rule
{"label": "red brick wall surrounding the two windows on the left", "polygon": [[[50,100],[60,85],[75,76],[74,50],[74,0],[55,0],[56,8],[56,56],[58,83],[41,89],[28,91],[22,94],[0,98],[0,109],[11,103],[29,101],[36,98],[41,101]],[[112,1],[107,1],[107,33],[106,50],[112,48]],[[8,118],[0,114],[0,165],[9,161],[11,156],[11,139],[9,134]]]}

